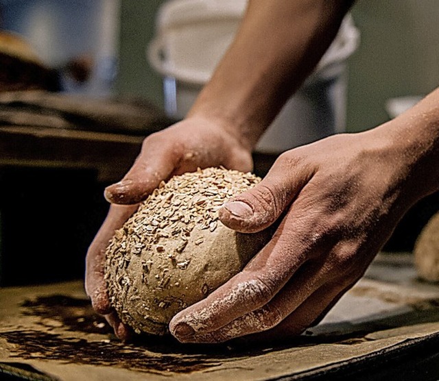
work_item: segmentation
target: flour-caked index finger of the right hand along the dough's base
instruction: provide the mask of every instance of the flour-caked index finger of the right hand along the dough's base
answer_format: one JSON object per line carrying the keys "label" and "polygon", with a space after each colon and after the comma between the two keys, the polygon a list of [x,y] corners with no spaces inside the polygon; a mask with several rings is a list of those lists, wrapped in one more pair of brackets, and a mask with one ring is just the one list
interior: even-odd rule
{"label": "flour-caked index finger of the right hand along the dough's base", "polygon": [[[296,223],[298,230],[285,232],[285,226],[291,227]],[[182,310],[171,320],[171,333],[183,340],[196,332],[217,330],[265,306],[305,260],[318,257],[324,252],[324,247],[334,245],[332,241],[313,240],[311,232],[308,225],[296,221],[292,208],[272,240],[243,271],[206,299]],[[298,293],[297,289],[295,292]]]}

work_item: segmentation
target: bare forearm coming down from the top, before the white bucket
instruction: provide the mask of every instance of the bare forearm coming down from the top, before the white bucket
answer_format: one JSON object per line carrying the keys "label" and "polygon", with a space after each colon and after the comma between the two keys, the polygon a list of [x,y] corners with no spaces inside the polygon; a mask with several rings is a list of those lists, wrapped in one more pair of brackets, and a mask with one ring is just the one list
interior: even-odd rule
{"label": "bare forearm coming down from the top, before the white bucket", "polygon": [[352,0],[250,0],[189,116],[215,119],[251,149],[337,34]]}

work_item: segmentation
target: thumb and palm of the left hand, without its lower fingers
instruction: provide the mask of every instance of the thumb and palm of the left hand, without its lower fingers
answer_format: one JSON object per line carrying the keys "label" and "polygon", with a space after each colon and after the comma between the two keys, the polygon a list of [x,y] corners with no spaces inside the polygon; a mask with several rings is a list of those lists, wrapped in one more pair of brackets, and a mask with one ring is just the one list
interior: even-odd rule
{"label": "thumb and palm of the left hand, without its lower fingers", "polygon": [[233,128],[209,119],[188,118],[148,136],[130,171],[106,188],[106,199],[115,204],[135,204],[171,175],[219,165],[250,171],[250,147],[239,140]]}

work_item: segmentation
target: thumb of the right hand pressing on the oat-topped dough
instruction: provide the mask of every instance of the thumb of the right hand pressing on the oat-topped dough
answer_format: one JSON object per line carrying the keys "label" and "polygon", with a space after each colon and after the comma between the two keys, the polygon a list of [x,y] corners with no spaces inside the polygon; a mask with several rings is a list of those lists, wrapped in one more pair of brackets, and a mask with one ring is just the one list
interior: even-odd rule
{"label": "thumb of the right hand pressing on the oat-topped dough", "polygon": [[259,184],[219,209],[219,219],[238,232],[253,233],[268,228],[288,208],[313,173],[299,160],[292,161],[291,155],[280,156]]}

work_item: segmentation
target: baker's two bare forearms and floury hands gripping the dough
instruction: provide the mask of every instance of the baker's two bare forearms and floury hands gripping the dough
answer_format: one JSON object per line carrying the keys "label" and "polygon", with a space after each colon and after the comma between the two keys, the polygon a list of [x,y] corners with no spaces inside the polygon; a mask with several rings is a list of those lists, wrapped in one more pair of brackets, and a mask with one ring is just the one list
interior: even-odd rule
{"label": "baker's two bare forearms and floury hands gripping the dough", "polygon": [[[197,167],[250,170],[252,147],[316,67],[352,4],[249,1],[187,119],[145,139],[132,169],[106,189],[108,201],[137,204],[162,180]],[[171,333],[217,342],[298,334],[318,321],[361,277],[404,212],[439,189],[438,104],[436,90],[375,130],[284,153],[259,186],[221,211],[224,224],[241,232],[278,221],[274,238],[244,271],[176,315]],[[132,210],[110,209],[87,256],[88,295],[121,338],[128,331],[108,308],[102,250]]]}

